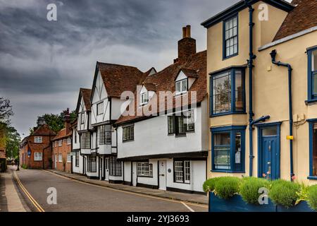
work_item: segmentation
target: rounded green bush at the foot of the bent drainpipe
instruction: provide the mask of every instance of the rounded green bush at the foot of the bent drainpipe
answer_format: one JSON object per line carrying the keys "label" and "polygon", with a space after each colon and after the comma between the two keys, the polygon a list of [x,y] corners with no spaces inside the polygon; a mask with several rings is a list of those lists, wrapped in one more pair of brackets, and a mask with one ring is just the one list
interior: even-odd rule
{"label": "rounded green bush at the foot of the bent drainpipe", "polygon": [[272,182],[268,196],[273,203],[285,208],[291,208],[299,198],[300,190],[301,186],[299,184],[278,179]]}

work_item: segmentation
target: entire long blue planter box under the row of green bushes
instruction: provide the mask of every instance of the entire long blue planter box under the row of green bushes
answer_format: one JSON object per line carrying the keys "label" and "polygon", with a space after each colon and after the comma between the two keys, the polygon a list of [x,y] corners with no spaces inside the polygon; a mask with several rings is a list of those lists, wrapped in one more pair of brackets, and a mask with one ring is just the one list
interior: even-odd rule
{"label": "entire long blue planter box under the row of green bushes", "polygon": [[243,201],[241,196],[233,196],[230,199],[223,199],[209,192],[209,212],[314,212],[309,208],[306,201],[300,202],[292,208],[276,206],[270,199],[268,204],[252,205]]}

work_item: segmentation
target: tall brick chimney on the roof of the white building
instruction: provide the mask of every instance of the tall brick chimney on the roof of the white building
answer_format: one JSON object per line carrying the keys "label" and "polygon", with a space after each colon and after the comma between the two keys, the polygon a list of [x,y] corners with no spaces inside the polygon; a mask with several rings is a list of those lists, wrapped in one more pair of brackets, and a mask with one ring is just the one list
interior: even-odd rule
{"label": "tall brick chimney on the roof of the white building", "polygon": [[178,41],[178,61],[185,64],[192,54],[196,54],[196,40],[190,37],[190,25],[182,28],[182,39]]}

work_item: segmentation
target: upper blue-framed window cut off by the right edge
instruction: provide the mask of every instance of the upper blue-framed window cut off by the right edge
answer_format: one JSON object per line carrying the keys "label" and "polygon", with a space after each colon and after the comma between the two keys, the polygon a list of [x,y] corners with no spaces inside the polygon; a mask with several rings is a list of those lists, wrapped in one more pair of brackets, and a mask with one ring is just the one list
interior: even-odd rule
{"label": "upper blue-framed window cut off by the right edge", "polygon": [[308,55],[308,100],[317,101],[317,47],[307,49]]}

